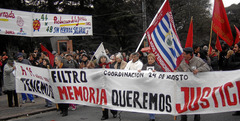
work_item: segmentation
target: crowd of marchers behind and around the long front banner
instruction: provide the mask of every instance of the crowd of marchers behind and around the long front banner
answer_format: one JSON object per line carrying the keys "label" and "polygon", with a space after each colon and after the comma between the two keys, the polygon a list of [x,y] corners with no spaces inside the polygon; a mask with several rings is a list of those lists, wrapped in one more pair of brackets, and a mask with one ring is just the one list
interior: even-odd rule
{"label": "crowd of marchers behind and around the long front banner", "polygon": [[[47,52],[40,52],[35,49],[33,52],[26,54],[24,50],[16,54],[8,55],[6,51],[0,55],[0,95],[7,94],[8,106],[18,107],[17,93],[15,88],[14,60],[20,63],[33,65],[42,68],[113,68],[125,70],[151,70],[162,72],[161,66],[155,62],[155,55],[152,53],[143,53],[141,51],[126,54],[125,52],[117,52],[110,54],[106,51],[98,59],[85,50],[75,52],[64,52],[52,54],[55,56],[54,66],[51,66]],[[218,52],[215,48],[208,49],[208,46],[193,46],[183,49],[183,61],[176,71],[179,72],[199,72],[206,71],[226,71],[240,69],[240,43],[229,47],[226,43],[222,43],[222,52]],[[27,97],[31,103],[34,103],[34,95],[22,94],[22,103],[27,102]],[[13,103],[14,102],[14,103]],[[52,107],[51,101],[46,100],[46,107]],[[76,110],[76,104],[58,104],[62,116],[68,115],[68,109]],[[102,109],[101,120],[109,118],[108,109]],[[116,110],[110,110],[113,117],[117,117]],[[240,115],[235,112],[233,115]],[[155,115],[149,114],[149,120],[155,121]],[[195,115],[195,121],[200,121],[200,115]],[[187,121],[187,116],[182,115],[181,121]]]}

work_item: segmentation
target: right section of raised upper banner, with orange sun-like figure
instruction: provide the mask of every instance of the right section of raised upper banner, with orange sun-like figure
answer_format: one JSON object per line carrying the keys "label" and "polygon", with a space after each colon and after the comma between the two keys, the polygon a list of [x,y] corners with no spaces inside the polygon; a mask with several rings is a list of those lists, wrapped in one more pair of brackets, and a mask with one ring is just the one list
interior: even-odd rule
{"label": "right section of raised upper banner, with orange sun-like figure", "polygon": [[33,36],[89,36],[92,16],[34,13]]}

